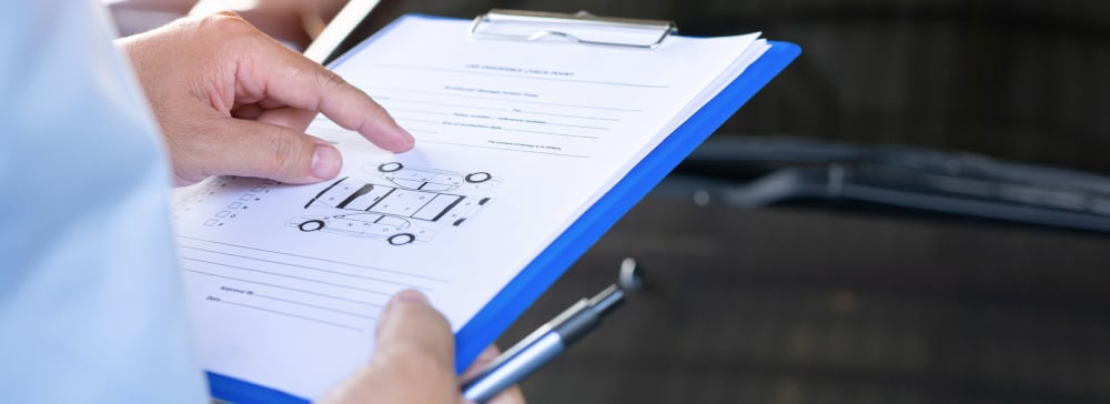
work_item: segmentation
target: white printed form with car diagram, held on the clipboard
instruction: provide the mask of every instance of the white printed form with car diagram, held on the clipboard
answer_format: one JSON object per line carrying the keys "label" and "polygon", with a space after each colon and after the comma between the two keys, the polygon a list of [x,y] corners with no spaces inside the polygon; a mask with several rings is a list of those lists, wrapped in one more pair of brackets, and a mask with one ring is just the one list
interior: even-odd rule
{"label": "white printed form with car diagram, held on the clipboard", "polygon": [[317,398],[370,360],[404,289],[458,331],[767,49],[758,34],[648,50],[474,39],[467,26],[404,17],[335,68],[415,135],[413,151],[320,117],[307,133],[343,151],[336,179],[176,190],[208,371]]}

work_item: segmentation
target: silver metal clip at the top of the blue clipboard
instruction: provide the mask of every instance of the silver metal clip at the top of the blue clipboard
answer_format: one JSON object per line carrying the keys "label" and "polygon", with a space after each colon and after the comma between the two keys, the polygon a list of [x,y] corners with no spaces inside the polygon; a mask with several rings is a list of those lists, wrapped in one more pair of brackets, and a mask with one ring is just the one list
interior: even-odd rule
{"label": "silver metal clip at the top of the blue clipboard", "polygon": [[678,33],[674,21],[518,10],[490,10],[474,18],[471,37],[517,41],[559,38],[574,43],[655,49]]}

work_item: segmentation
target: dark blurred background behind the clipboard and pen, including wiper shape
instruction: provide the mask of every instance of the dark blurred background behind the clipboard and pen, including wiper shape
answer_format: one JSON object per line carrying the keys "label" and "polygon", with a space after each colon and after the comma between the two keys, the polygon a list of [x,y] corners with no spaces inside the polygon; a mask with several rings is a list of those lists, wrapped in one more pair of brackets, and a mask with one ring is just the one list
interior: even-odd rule
{"label": "dark blurred background behind the clipboard and pen, including wiper shape", "polygon": [[503,336],[646,274],[531,402],[1110,403],[1110,2],[385,0],[341,48],[492,8],[804,50]]}

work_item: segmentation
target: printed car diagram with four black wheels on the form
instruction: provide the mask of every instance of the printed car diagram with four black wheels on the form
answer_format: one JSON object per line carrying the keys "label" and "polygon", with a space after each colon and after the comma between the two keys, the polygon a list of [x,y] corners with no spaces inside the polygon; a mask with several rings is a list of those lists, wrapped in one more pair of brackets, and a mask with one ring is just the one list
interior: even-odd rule
{"label": "printed car diagram with four black wheels on the form", "polygon": [[379,238],[391,245],[424,243],[436,234],[428,228],[460,226],[477,214],[491,201],[482,191],[502,181],[487,172],[406,168],[398,162],[367,166],[376,175],[336,180],[304,204],[321,214],[294,218],[286,225]]}

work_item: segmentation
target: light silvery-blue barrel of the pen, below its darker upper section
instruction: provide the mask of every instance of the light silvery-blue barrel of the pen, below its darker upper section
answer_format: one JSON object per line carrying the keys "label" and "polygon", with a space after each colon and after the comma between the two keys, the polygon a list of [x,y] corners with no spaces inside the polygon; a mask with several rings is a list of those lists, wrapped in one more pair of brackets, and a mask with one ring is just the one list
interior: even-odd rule
{"label": "light silvery-blue barrel of the pen, below its darker upper section", "polygon": [[515,354],[500,360],[490,370],[463,385],[463,398],[485,403],[497,393],[524,380],[557,356],[566,345],[556,332],[547,332]]}

